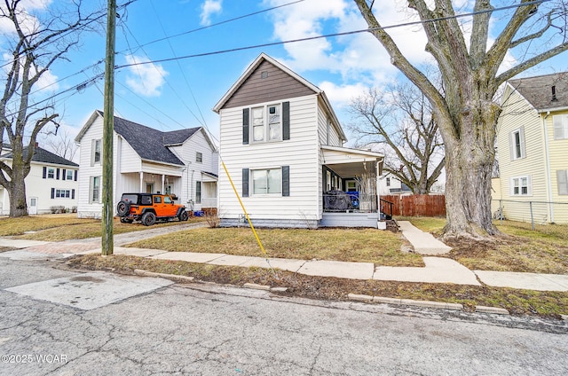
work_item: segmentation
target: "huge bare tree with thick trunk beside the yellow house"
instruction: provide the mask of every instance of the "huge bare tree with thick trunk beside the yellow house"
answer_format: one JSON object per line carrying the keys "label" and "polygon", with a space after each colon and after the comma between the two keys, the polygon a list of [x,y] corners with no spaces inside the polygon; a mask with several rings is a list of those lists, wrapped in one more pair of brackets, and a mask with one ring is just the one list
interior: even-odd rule
{"label": "huge bare tree with thick trunk beside the yellow house", "polygon": [[[366,0],[354,0],[369,32],[383,44],[391,63],[428,98],[446,146],[445,236],[483,238],[499,233],[492,223],[491,175],[496,123],[501,107],[493,101],[503,82],[546,59],[568,50],[566,5],[563,1],[520,0],[501,17],[502,28],[490,43],[493,4],[476,0],[469,41],[454,11],[452,0],[408,0],[410,12],[422,20],[428,42],[425,50],[435,59],[445,92],[430,82],[398,49],[375,18]],[[492,4],[493,3],[493,4]],[[375,11],[379,12],[379,11]],[[508,53],[523,57],[504,72]]]}

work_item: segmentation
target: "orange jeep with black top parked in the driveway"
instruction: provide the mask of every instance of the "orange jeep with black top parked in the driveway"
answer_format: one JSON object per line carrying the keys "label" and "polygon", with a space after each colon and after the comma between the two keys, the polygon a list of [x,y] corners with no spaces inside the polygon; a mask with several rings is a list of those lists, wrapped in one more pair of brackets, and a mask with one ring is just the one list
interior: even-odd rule
{"label": "orange jeep with black top parked in the driveway", "polygon": [[174,202],[175,196],[160,193],[122,193],[122,199],[116,205],[116,214],[122,223],[140,221],[151,226],[156,221],[187,221],[189,214],[185,206]]}

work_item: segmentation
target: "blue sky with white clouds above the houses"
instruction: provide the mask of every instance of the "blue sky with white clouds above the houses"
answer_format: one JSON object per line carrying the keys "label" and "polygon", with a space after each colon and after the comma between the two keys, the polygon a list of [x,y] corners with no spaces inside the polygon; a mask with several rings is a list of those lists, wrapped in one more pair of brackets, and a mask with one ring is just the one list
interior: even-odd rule
{"label": "blue sky with white clouds above the houses", "polygon": [[[104,0],[99,2],[106,4]],[[118,1],[119,4],[123,2]],[[28,0],[30,6],[36,7],[36,12],[42,12],[42,7],[50,6],[50,3],[50,0]],[[295,3],[295,0],[137,0],[122,10],[117,20],[115,63],[122,66],[180,58],[367,27],[350,0],[304,0],[261,12],[288,3]],[[463,12],[467,12],[471,2],[459,0],[454,3],[461,4]],[[376,2],[375,9],[379,4],[379,20],[383,26],[413,20],[405,7],[406,2]],[[260,13],[216,25],[254,12]],[[467,22],[464,25],[467,28]],[[494,25],[498,27],[499,20]],[[391,34],[415,64],[429,59],[424,52],[425,37],[420,27],[391,29]],[[161,41],[154,42],[156,40]],[[351,115],[346,111],[351,98],[369,86],[381,87],[402,79],[390,65],[382,46],[368,33],[362,33],[123,67],[115,74],[115,114],[162,130],[207,125],[217,137],[218,115],[211,108],[261,52],[279,59],[325,90],[343,125],[351,121]],[[90,67],[104,56],[105,35],[86,36],[81,49],[69,53],[69,62],[52,67],[45,82],[57,83],[43,92],[49,91],[51,95],[103,72],[104,65],[100,63],[82,74],[65,78]],[[566,57],[564,53],[527,74],[566,71]],[[509,64],[514,61],[515,57],[510,55]],[[62,115],[60,121],[64,131],[75,137],[92,112],[102,110],[102,90],[103,81],[99,80],[72,96],[58,97],[56,110]]]}

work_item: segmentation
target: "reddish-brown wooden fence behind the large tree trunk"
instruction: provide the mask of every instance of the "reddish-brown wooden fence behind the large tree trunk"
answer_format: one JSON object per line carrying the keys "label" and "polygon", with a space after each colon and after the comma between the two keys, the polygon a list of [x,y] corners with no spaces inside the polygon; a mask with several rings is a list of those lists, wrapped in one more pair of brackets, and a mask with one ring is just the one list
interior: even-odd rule
{"label": "reddish-brown wooden fence behind the large tree trunk", "polygon": [[390,205],[385,204],[384,201],[392,202],[393,216],[446,215],[446,196],[443,194],[413,194],[408,196],[391,194],[381,196],[381,211],[390,214]]}

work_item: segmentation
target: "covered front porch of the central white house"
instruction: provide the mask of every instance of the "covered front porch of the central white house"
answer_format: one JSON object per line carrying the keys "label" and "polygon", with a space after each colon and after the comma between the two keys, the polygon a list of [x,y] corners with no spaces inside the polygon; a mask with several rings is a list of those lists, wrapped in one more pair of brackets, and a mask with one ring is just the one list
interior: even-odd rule
{"label": "covered front porch of the central white house", "polygon": [[383,154],[322,146],[322,218],[320,227],[377,227],[382,219],[376,179]]}

